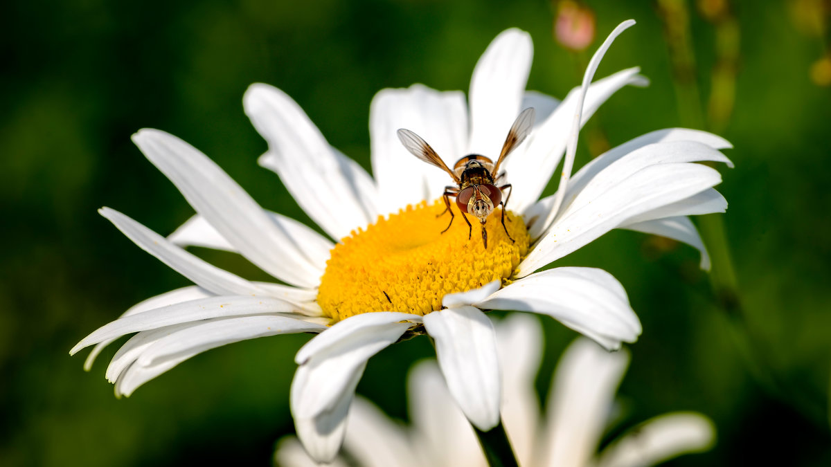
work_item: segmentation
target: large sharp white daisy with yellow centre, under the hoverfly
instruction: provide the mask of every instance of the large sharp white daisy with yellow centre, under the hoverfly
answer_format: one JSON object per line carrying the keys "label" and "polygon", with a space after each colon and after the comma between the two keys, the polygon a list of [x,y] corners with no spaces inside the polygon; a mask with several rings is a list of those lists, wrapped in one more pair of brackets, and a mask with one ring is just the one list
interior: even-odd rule
{"label": "large sharp white daisy with yellow centre, under the hoverfly", "polygon": [[[696,130],[658,130],[570,176],[580,125],[623,86],[646,84],[637,68],[592,83],[603,54],[633,23],[622,23],[603,42],[583,85],[562,102],[524,91],[532,46],[517,29],[499,34],[479,59],[469,106],[459,91],[421,85],[379,92],[370,111],[374,179],[329,145],[290,97],[272,86],[251,86],[245,112],[268,140],[260,164],[277,172],[337,243],[260,207],[193,146],[160,130],[140,130],[135,144],[197,214],[168,238],[114,209],[101,214],[195,285],[139,303],[71,353],[96,345],[88,368],[106,344],[135,332],[106,371],[116,394],[129,396],[210,348],[319,333],[297,352],[290,405],[308,452],[331,460],[366,361],[406,335],[426,333],[461,410],[479,430],[493,428],[501,385],[494,329],[483,311],[541,313],[616,349],[641,333],[621,284],[596,268],[540,268],[617,228],[690,243],[707,266],[686,216],[725,210],[725,199],[712,189],[719,173],[694,163],[729,163],[718,151],[729,147],[725,140]],[[538,118],[504,163],[515,187],[505,229],[494,220],[498,214],[491,216],[488,248],[481,238],[469,239],[460,222],[442,234],[446,215],[437,215],[444,205],[426,200],[442,193],[447,175],[409,154],[396,130],[415,131],[452,162],[494,154],[526,107]],[[557,194],[539,199],[561,159]],[[284,284],[240,278],[187,252],[187,245],[237,252]]]}

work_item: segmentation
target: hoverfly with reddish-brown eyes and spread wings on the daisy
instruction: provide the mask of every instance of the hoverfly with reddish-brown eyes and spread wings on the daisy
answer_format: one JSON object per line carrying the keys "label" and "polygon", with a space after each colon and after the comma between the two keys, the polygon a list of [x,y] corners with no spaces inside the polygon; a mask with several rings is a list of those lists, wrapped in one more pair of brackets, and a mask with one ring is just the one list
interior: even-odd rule
{"label": "hoverfly with reddish-brown eyes and spread wings on the daisy", "polygon": [[[442,234],[447,232],[447,229],[450,229],[450,226],[453,225],[455,215],[453,214],[453,210],[450,209],[450,197],[455,197],[456,205],[462,214],[462,219],[465,219],[465,222],[468,224],[469,240],[473,232],[473,226],[470,224],[467,216],[465,216],[465,213],[473,214],[476,219],[479,219],[479,224],[482,226],[484,248],[488,248],[488,232],[484,229],[484,224],[487,222],[490,213],[494,211],[494,206],[501,204],[502,228],[505,230],[505,235],[508,235],[510,241],[514,242],[514,238],[511,238],[510,234],[508,234],[508,228],[505,227],[505,205],[508,204],[513,189],[511,184],[498,185],[504,179],[505,175],[504,172],[499,173],[499,165],[502,165],[505,157],[525,140],[529,133],[531,133],[533,126],[534,108],[529,107],[520,112],[517,119],[514,120],[514,125],[511,125],[511,129],[508,131],[508,137],[505,138],[504,145],[502,145],[502,152],[499,153],[499,159],[496,160],[495,164],[493,160],[490,160],[484,155],[471,154],[465,155],[465,157],[457,160],[453,166],[453,170],[450,170],[445,165],[445,162],[441,160],[435,150],[425,140],[422,140],[419,135],[403,128],[398,130],[398,139],[401,140],[401,144],[412,155],[415,155],[428,164],[435,165],[441,170],[445,170],[456,183],[456,186],[449,185],[445,187],[445,193],[442,194],[442,198],[445,200],[445,210],[439,216],[450,212],[450,224],[447,224],[447,228],[441,231]],[[509,190],[504,201],[502,200],[503,190]]]}

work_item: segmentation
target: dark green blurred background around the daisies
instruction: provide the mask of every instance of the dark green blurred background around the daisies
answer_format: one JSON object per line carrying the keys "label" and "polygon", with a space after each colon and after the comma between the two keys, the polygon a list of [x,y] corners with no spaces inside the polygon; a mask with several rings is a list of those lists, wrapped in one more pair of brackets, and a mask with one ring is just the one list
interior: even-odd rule
{"label": "dark green blurred background around the daisies", "polygon": [[[831,465],[828,2],[623,3],[587,3],[601,39],[624,19],[638,22],[597,76],[642,66],[652,86],[602,106],[577,165],[606,141],[670,126],[725,136],[736,168],[720,168],[718,188],[730,202],[721,217],[738,288],[723,260],[714,273],[725,289],[714,293],[692,248],[626,231],[558,263],[606,268],[642,320],[619,427],[699,410],[715,420],[718,444],[674,465]],[[557,5],[543,1],[36,0],[3,9],[4,466],[268,465],[274,441],[293,430],[288,385],[307,336],[209,351],[122,400],[103,377],[117,346],[90,373],[81,369],[86,351],[67,355],[135,302],[188,284],[96,214],[111,206],[160,233],[192,214],[130,143],[135,130],[182,137],[264,207],[311,224],[278,177],[256,165],[266,144],[243,115],[250,83],[287,91],[368,169],[369,103],[381,88],[420,81],[466,91],[488,43],[520,27],[534,38],[529,88],[563,97],[599,43],[582,53],[558,45]],[[196,253],[265,278],[234,255]],[[545,327],[542,394],[574,337],[551,320]],[[406,419],[407,368],[432,354],[424,338],[382,351],[358,392]]]}

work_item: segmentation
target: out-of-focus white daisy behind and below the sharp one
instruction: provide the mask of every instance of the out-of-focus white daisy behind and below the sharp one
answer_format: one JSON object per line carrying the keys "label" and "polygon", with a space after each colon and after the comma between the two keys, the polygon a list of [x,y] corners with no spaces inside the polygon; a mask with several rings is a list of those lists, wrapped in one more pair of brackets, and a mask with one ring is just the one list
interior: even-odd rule
{"label": "out-of-focus white daisy behind and below the sharp one", "polygon": [[[646,467],[713,445],[710,419],[672,412],[633,426],[597,454],[604,431],[620,418],[614,397],[629,362],[627,351],[608,352],[586,338],[575,340],[560,357],[543,411],[534,384],[543,347],[538,320],[514,314],[494,327],[499,361],[504,363],[502,417],[519,465]],[[410,425],[356,398],[343,445],[354,462],[338,456],[332,467],[486,467],[474,432],[435,361],[417,363],[408,387]],[[275,461],[283,467],[317,465],[294,436],[278,441]]]}

